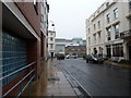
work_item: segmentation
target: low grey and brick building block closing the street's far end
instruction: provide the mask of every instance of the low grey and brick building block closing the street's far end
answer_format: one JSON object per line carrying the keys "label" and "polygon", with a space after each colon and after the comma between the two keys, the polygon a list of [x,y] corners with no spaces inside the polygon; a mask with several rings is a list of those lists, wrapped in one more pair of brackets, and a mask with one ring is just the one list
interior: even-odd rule
{"label": "low grey and brick building block closing the street's far end", "polygon": [[82,38],[56,38],[56,53],[63,52],[64,54],[78,53],[79,57],[85,54],[86,40]]}

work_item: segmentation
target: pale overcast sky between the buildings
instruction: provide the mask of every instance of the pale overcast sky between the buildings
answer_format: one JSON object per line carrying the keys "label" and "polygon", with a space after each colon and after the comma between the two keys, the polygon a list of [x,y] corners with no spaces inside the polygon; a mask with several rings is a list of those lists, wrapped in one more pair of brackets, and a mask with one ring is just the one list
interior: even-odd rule
{"label": "pale overcast sky between the buildings", "polygon": [[[105,0],[48,0],[49,21],[53,21],[57,38],[86,38],[85,20]],[[51,24],[51,22],[49,22]]]}

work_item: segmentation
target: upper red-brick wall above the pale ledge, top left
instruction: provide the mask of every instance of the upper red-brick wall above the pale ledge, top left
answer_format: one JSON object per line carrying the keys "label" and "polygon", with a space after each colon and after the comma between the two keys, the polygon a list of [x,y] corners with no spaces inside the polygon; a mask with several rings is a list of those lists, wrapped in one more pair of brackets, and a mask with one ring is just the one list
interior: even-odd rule
{"label": "upper red-brick wall above the pale ledge, top left", "polygon": [[36,13],[33,2],[16,2],[15,4],[32,25],[37,35],[40,36],[40,3],[38,2],[38,14]]}

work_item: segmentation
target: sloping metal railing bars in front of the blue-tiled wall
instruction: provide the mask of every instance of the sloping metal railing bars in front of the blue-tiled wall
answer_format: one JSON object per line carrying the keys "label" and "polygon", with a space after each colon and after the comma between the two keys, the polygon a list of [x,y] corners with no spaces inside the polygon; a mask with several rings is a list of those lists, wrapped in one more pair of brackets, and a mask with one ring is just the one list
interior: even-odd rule
{"label": "sloping metal railing bars in front of the blue-tiled wall", "polygon": [[[4,78],[8,78],[8,77],[10,77],[11,75],[13,75],[13,74],[15,74],[15,73],[19,73],[20,71],[23,71],[23,70],[25,70],[25,69],[34,65],[35,63],[36,63],[36,62],[33,62],[33,63],[31,63],[31,64],[28,64],[28,65],[26,65],[26,66],[23,66],[23,68],[16,70],[16,71],[14,71],[14,72],[12,72],[12,73],[3,76],[3,77],[1,77],[0,81],[2,81],[2,79],[4,79]],[[4,93],[4,94],[2,95],[2,97],[5,97],[9,93],[11,93],[16,86],[19,86],[22,82],[24,82],[25,78],[27,78],[31,74],[33,74],[34,71],[35,71],[35,69],[33,69],[32,71],[29,71],[29,72],[28,72],[22,79],[20,79],[13,87],[11,87],[7,93]],[[0,74],[3,74],[3,73],[0,73]],[[26,85],[25,85],[22,89],[20,89],[21,91],[19,93],[17,97],[22,95],[22,93],[24,91],[24,89],[28,86],[28,84],[33,81],[34,77],[35,77],[35,74],[29,78],[29,81],[26,83]]]}

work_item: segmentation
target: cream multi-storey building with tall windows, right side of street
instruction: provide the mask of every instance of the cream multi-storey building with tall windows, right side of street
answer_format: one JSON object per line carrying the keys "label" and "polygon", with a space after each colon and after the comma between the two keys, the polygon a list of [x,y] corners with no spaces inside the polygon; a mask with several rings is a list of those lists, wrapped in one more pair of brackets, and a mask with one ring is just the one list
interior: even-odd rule
{"label": "cream multi-storey building with tall windows, right side of street", "polygon": [[121,33],[130,29],[129,12],[129,2],[104,2],[86,20],[86,53],[114,61],[129,60],[126,40],[120,37]]}

